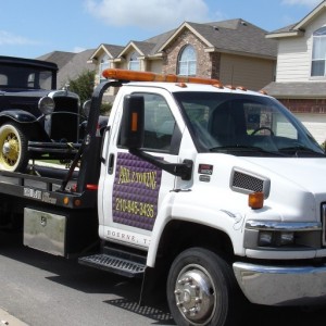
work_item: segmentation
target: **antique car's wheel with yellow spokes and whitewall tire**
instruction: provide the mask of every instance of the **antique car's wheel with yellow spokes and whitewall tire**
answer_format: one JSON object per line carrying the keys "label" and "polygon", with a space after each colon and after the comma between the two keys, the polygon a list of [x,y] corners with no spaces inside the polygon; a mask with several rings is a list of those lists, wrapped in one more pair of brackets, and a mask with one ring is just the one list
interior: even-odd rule
{"label": "antique car's wheel with yellow spokes and whitewall tire", "polygon": [[27,137],[20,125],[7,123],[0,127],[0,168],[22,172],[28,164]]}

